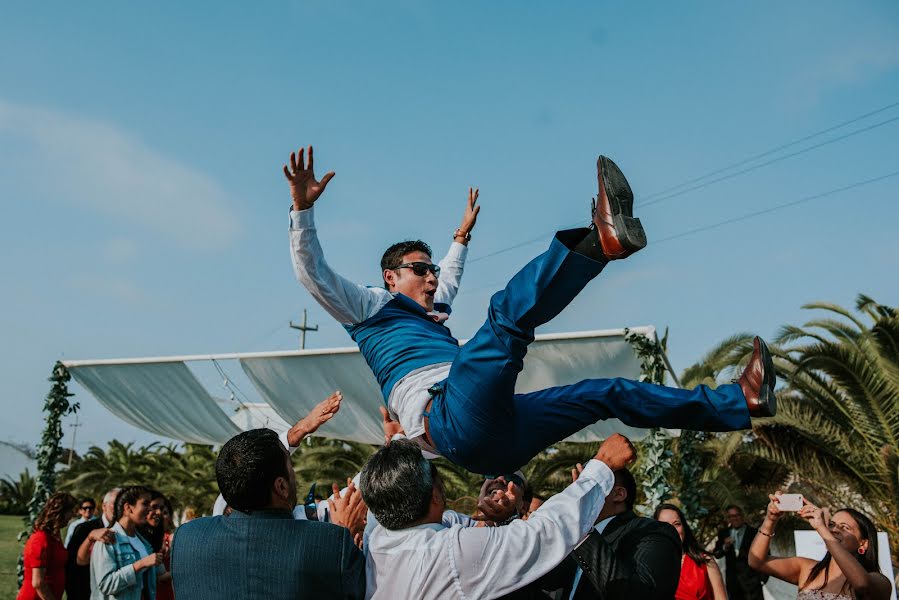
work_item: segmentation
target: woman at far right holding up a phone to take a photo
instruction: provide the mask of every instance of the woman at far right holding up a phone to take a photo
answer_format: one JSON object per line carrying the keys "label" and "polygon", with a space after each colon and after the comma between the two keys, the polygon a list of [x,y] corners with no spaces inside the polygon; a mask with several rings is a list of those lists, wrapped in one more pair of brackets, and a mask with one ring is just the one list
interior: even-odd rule
{"label": "woman at far right holding up a phone to take a photo", "polygon": [[793,556],[768,556],[777,521],[778,491],[769,496],[768,513],[752,540],[749,566],[799,586],[797,600],[887,600],[892,587],[877,563],[877,528],[862,512],[841,508],[830,515],[803,498],[799,516],[824,540],[827,553],[819,561]]}

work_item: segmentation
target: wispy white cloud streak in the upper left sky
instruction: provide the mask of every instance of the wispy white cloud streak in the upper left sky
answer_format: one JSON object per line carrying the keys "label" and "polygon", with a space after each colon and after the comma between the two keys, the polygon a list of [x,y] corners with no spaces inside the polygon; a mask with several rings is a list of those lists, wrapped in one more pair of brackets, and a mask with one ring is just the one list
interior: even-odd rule
{"label": "wispy white cloud streak in the upper left sky", "polygon": [[217,249],[239,233],[240,221],[213,178],[113,125],[0,99],[0,140],[23,189],[91,207],[187,248]]}

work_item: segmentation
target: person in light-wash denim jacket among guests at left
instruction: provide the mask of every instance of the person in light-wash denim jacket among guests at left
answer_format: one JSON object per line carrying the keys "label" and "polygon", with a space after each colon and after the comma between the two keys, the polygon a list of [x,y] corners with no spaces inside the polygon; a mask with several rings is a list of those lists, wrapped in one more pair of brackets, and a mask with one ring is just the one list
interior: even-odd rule
{"label": "person in light-wash denim jacket among guests at left", "polygon": [[119,492],[112,526],[115,542],[94,544],[91,550],[92,600],[155,600],[162,554],[138,533],[147,524],[151,495],[140,485]]}

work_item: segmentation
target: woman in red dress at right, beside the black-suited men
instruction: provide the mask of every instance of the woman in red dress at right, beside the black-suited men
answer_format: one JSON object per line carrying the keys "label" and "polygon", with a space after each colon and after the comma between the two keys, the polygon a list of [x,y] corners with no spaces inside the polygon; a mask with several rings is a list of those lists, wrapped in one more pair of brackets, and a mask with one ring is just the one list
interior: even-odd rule
{"label": "woman in red dress at right, beside the black-suited men", "polygon": [[682,545],[680,580],[675,600],[727,600],[724,578],[715,558],[696,541],[683,511],[674,504],[661,504],[653,518],[677,530]]}

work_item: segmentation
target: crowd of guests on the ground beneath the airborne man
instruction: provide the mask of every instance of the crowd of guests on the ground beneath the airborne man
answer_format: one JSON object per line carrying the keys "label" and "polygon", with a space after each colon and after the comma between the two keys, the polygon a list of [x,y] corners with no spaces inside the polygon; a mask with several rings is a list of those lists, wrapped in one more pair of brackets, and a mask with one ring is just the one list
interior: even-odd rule
{"label": "crowd of guests on the ground beneath the airborne man", "polygon": [[769,555],[779,492],[757,529],[727,507],[709,544],[675,504],[638,516],[635,449],[617,434],[561,493],[536,498],[521,471],[487,477],[467,515],[448,509],[434,463],[385,411],[385,445],[333,486],[327,510],[302,510],[291,454],[341,400],[280,435],[256,429],[227,442],[215,465],[219,516],[177,530],[169,500],[143,486],[110,490],[96,516],[92,499],[54,494],[26,543],[18,598],[761,600],[768,576],[797,585],[800,600],[889,597],[876,528],[852,508],[831,515],[805,501],[798,514],[827,546],[820,561]]}

